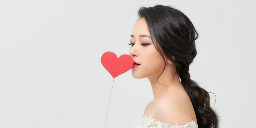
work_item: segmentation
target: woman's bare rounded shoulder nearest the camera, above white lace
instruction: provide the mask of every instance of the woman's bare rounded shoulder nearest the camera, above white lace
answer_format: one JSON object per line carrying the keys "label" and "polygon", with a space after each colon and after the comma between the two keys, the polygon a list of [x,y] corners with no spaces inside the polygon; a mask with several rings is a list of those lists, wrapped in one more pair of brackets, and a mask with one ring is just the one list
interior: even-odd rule
{"label": "woman's bare rounded shoulder nearest the camera, above white lace", "polygon": [[183,126],[196,120],[193,105],[185,94],[170,94],[156,106],[154,118],[166,124]]}

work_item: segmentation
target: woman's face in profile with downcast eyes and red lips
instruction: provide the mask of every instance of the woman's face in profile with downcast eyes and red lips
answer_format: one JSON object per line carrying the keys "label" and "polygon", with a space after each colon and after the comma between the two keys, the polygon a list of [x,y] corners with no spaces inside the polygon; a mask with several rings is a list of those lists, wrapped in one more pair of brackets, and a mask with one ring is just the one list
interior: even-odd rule
{"label": "woman's face in profile with downcast eyes and red lips", "polygon": [[146,20],[140,18],[133,28],[129,50],[129,55],[136,63],[140,64],[131,69],[134,78],[157,78],[165,65],[162,56],[158,53],[149,36]]}

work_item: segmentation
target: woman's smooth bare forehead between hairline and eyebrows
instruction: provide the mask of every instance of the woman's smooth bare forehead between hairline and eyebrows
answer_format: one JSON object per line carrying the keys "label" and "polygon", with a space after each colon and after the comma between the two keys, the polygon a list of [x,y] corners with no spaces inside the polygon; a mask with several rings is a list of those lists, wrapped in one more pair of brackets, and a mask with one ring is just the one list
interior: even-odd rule
{"label": "woman's smooth bare forehead between hairline and eyebrows", "polygon": [[142,34],[150,34],[147,28],[147,22],[144,18],[140,18],[135,23],[132,34],[135,36],[135,38]]}

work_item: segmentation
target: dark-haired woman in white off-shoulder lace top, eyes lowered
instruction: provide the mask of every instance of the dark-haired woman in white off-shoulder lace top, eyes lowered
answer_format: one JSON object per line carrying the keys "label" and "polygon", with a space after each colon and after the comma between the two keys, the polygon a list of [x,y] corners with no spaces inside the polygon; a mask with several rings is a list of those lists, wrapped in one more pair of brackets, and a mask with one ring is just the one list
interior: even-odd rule
{"label": "dark-haired woman in white off-shoulder lace top, eyes lowered", "polygon": [[154,100],[135,128],[218,128],[208,92],[190,79],[198,37],[191,21],[164,5],[141,7],[138,15],[129,44],[132,76],[150,80]]}

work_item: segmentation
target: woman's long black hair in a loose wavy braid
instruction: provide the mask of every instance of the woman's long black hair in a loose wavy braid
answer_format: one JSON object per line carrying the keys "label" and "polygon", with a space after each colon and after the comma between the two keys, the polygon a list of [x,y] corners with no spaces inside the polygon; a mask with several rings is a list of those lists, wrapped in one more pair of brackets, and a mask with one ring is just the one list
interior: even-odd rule
{"label": "woman's long black hair in a loose wavy braid", "polygon": [[176,64],[175,74],[178,72],[182,86],[191,99],[198,127],[218,128],[219,116],[210,106],[208,92],[190,79],[189,65],[197,54],[195,40],[198,38],[191,20],[180,10],[165,5],[140,7],[138,15],[139,19],[145,18],[153,45],[163,60],[165,56]]}

